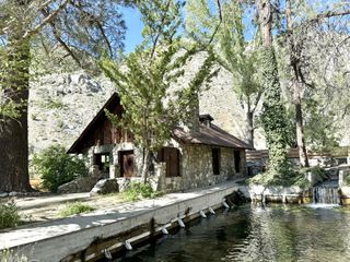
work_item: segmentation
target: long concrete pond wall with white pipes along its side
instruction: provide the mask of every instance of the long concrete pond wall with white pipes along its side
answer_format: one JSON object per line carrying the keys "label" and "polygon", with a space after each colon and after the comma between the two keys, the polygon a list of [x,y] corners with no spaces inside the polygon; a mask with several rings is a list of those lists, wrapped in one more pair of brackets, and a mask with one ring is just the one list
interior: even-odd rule
{"label": "long concrete pond wall with white pipes along its side", "polygon": [[224,198],[237,190],[246,187],[225,182],[27,225],[0,234],[0,250],[13,250],[30,261],[97,261],[222,207]]}

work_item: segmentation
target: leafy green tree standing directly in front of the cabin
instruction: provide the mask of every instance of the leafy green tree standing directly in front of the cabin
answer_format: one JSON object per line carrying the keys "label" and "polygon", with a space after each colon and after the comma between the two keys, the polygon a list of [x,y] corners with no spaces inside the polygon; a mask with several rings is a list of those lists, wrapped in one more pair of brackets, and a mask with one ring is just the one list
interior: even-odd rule
{"label": "leafy green tree standing directly in front of the cabin", "polygon": [[[122,117],[108,111],[106,115],[115,126],[131,131],[135,143],[145,154],[162,146],[180,120],[190,115],[197,117],[194,104],[202,83],[213,75],[210,52],[189,83],[183,86],[180,82],[184,66],[196,53],[195,47],[189,50],[182,47],[178,36],[182,8],[182,1],[141,1],[138,9],[144,24],[142,44],[124,57],[120,64],[109,59],[101,61],[125,108]],[[178,86],[180,91],[175,90]],[[143,163],[142,170],[144,165],[148,163]]]}

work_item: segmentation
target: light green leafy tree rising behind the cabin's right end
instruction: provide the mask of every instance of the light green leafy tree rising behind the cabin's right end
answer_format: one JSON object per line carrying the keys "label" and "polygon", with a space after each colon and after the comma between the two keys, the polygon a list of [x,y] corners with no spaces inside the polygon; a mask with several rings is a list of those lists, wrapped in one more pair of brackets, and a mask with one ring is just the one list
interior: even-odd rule
{"label": "light green leafy tree rising behind the cabin's right end", "polygon": [[189,37],[201,46],[213,43],[217,62],[232,76],[232,88],[247,112],[246,140],[253,145],[254,114],[262,88],[256,39],[245,39],[248,27],[243,22],[245,8],[240,1],[224,1],[221,11],[215,12],[206,0],[188,0],[185,27]]}

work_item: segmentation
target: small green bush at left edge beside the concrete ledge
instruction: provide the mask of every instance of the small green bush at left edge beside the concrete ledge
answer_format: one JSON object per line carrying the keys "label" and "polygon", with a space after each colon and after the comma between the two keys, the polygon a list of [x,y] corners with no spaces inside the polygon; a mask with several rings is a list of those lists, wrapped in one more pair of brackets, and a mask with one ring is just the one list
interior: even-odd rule
{"label": "small green bush at left edge beside the concrete ledge", "polygon": [[20,221],[19,207],[13,201],[0,203],[0,229],[15,227],[19,225]]}

